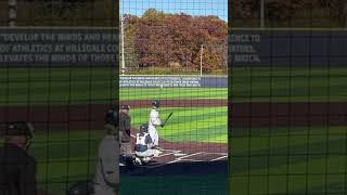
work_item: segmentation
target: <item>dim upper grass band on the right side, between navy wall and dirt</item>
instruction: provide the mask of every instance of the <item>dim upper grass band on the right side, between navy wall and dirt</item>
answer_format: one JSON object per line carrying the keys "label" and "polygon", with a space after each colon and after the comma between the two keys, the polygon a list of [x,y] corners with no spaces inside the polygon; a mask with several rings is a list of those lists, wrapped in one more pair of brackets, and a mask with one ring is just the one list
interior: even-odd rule
{"label": "dim upper grass band on the right side, between navy wall and dirt", "polygon": [[347,68],[233,68],[233,102],[346,101]]}

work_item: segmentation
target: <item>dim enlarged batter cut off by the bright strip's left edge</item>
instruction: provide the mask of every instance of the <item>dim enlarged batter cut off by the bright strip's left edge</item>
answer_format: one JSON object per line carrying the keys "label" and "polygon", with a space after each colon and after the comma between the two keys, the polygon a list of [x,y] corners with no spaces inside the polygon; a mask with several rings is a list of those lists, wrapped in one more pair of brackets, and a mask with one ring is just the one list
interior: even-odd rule
{"label": "dim enlarged batter cut off by the bright strip's left edge", "polygon": [[106,135],[101,141],[94,178],[95,195],[117,195],[119,191],[119,109],[112,107],[105,116]]}

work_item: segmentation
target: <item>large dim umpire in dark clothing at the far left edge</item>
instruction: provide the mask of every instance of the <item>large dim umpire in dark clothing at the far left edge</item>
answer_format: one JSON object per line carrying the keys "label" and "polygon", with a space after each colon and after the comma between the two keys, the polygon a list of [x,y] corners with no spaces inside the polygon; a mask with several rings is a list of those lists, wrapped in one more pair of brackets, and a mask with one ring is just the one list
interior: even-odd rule
{"label": "large dim umpire in dark clothing at the far left edge", "polygon": [[0,147],[0,195],[36,195],[36,161],[27,154],[34,128],[29,122],[10,123]]}

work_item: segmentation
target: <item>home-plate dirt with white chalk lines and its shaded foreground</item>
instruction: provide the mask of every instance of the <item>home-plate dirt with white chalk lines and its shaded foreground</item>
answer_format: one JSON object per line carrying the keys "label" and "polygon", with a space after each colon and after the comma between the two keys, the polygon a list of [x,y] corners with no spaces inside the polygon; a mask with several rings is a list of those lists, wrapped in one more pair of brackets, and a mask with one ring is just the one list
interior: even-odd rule
{"label": "home-plate dirt with white chalk lines and its shaded foreground", "polygon": [[[131,145],[138,131],[131,131]],[[172,176],[208,174],[228,172],[228,144],[198,142],[168,142],[159,140],[162,154],[149,165],[129,169],[121,168],[127,176]]]}

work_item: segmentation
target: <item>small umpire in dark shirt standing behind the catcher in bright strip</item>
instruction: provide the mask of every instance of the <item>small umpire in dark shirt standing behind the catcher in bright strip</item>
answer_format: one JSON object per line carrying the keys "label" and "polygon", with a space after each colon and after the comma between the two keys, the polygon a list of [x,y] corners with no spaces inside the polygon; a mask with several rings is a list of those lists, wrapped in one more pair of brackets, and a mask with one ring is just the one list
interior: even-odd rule
{"label": "small umpire in dark shirt standing behind the catcher in bright strip", "polygon": [[120,107],[120,120],[119,120],[119,138],[120,138],[120,162],[126,162],[128,166],[132,166],[133,157],[131,154],[130,143],[130,129],[131,118],[129,116],[130,106],[121,105]]}

